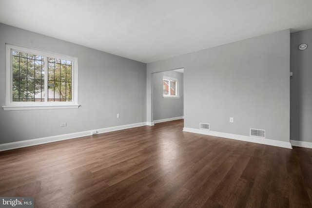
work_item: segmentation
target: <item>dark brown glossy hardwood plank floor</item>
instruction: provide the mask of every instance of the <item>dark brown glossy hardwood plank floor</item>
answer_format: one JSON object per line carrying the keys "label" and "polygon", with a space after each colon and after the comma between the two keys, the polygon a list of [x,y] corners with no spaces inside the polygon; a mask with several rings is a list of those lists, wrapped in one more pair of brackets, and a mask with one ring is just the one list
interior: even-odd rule
{"label": "dark brown glossy hardwood plank floor", "polygon": [[38,208],[311,208],[312,149],[182,132],[183,120],[0,152],[0,196]]}

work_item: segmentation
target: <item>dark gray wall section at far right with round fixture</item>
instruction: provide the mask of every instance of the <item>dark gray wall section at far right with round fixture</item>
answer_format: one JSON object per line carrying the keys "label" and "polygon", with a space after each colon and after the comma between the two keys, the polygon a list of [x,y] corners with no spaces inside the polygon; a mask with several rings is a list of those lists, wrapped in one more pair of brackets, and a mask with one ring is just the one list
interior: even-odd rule
{"label": "dark gray wall section at far right with round fixture", "polygon": [[312,29],[291,34],[291,71],[291,139],[312,142]]}

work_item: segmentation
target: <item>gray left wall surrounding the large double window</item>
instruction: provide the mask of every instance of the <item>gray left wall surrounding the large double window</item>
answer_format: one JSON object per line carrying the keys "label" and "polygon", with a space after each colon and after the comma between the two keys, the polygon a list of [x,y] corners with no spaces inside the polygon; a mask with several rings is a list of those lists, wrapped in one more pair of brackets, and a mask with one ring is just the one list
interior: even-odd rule
{"label": "gray left wall surrounding the large double window", "polygon": [[[4,111],[0,144],[146,122],[146,64],[0,24],[0,106],[5,43],[78,57],[78,109]],[[120,113],[120,118],[116,114]],[[60,127],[66,122],[67,127]]]}

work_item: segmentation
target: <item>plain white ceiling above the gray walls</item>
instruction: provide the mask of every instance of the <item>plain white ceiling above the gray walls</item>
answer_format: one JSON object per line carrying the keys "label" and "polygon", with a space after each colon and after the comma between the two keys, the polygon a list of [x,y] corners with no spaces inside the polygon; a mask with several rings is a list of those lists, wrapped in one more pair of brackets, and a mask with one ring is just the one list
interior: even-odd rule
{"label": "plain white ceiling above the gray walls", "polygon": [[149,63],[311,29],[312,0],[0,0],[0,22]]}

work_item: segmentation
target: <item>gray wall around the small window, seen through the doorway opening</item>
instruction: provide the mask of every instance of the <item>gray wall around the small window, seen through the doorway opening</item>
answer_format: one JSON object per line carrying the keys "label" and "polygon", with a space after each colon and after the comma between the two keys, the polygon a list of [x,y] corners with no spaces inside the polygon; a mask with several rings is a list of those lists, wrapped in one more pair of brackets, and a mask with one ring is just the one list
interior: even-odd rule
{"label": "gray wall around the small window, seen through the doorway opening", "polygon": [[[178,79],[179,98],[163,98],[163,76]],[[183,73],[175,71],[153,74],[154,120],[183,116]]]}

